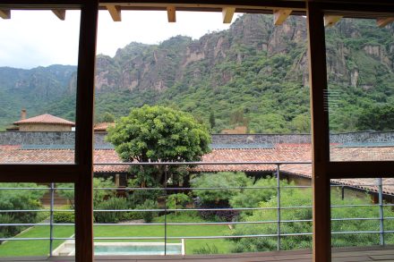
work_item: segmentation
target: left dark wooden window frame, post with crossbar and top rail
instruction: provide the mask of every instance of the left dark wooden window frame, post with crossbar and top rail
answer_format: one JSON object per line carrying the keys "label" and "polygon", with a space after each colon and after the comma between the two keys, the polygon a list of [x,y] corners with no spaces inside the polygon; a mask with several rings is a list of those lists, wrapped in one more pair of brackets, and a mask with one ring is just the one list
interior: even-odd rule
{"label": "left dark wooden window frame, post with crossbar and top rail", "polygon": [[93,106],[99,1],[2,1],[5,9],[80,9],[74,164],[0,165],[0,182],[75,184],[75,261],[93,261]]}

